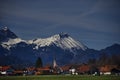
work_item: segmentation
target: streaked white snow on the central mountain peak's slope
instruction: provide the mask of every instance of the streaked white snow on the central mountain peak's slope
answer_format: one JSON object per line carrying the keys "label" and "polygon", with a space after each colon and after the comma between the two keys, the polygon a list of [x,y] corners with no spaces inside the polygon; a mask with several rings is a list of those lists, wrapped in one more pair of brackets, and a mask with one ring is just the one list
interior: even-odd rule
{"label": "streaked white snow on the central mountain peak's slope", "polygon": [[36,40],[30,40],[28,41],[29,44],[36,44],[35,49],[38,49],[39,47],[49,46],[52,44],[55,44],[57,47],[60,47],[62,49],[82,49],[86,50],[87,47],[84,46],[82,43],[74,40],[71,38],[68,34],[62,33],[57,34],[49,38],[45,39],[36,39]]}

